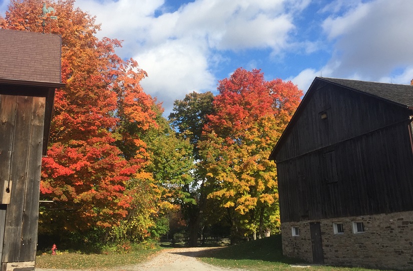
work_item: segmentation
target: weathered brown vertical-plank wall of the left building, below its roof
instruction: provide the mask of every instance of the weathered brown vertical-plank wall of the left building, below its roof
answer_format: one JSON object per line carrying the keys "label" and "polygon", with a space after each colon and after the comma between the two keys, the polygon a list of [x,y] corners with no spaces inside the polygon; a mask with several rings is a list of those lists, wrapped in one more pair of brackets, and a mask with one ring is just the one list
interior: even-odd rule
{"label": "weathered brown vertical-plank wall of the left building, below its roof", "polygon": [[0,95],[0,270],[28,261],[34,269],[45,100]]}

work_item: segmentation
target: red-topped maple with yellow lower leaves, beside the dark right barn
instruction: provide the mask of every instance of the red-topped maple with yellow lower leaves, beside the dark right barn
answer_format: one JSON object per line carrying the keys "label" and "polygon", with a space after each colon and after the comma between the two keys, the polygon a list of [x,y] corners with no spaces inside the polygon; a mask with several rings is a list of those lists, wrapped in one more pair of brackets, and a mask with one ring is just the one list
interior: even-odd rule
{"label": "red-topped maple with yellow lower leaves, beside the dark right barn", "polygon": [[272,208],[267,217],[277,219],[276,169],[268,156],[302,92],[291,82],[265,81],[260,70],[242,68],[221,80],[218,91],[199,143],[209,198],[228,209],[233,237],[261,232],[266,210]]}

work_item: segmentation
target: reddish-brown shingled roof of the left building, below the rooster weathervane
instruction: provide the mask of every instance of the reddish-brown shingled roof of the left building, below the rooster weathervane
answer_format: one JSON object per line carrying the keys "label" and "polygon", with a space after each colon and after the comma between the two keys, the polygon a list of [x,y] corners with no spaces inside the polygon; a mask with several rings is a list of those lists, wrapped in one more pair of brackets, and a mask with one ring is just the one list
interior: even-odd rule
{"label": "reddish-brown shingled roof of the left building, below the rooster weathervane", "polygon": [[0,83],[63,87],[61,37],[0,29]]}

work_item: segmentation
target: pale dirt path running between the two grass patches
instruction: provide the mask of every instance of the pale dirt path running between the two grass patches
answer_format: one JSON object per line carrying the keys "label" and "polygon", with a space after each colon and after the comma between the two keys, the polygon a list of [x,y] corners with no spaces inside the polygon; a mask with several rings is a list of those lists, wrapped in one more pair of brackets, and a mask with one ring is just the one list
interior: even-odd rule
{"label": "pale dirt path running between the two grass patches", "polygon": [[[212,266],[198,260],[196,257],[204,250],[219,249],[211,247],[185,247],[185,248],[171,248],[163,249],[160,253],[151,260],[113,269],[117,271],[229,271],[229,270],[242,270],[242,269],[228,269],[222,267]],[[62,269],[46,269],[36,268],[36,271],[69,271]],[[98,270],[96,270],[98,271]]]}

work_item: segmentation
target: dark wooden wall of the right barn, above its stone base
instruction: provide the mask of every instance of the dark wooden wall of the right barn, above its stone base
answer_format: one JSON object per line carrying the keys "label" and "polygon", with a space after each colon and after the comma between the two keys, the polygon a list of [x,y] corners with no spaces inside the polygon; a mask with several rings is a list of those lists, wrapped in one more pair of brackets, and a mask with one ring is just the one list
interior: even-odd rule
{"label": "dark wooden wall of the right barn, above its stone base", "polygon": [[408,110],[318,87],[276,156],[281,221],[413,210]]}

